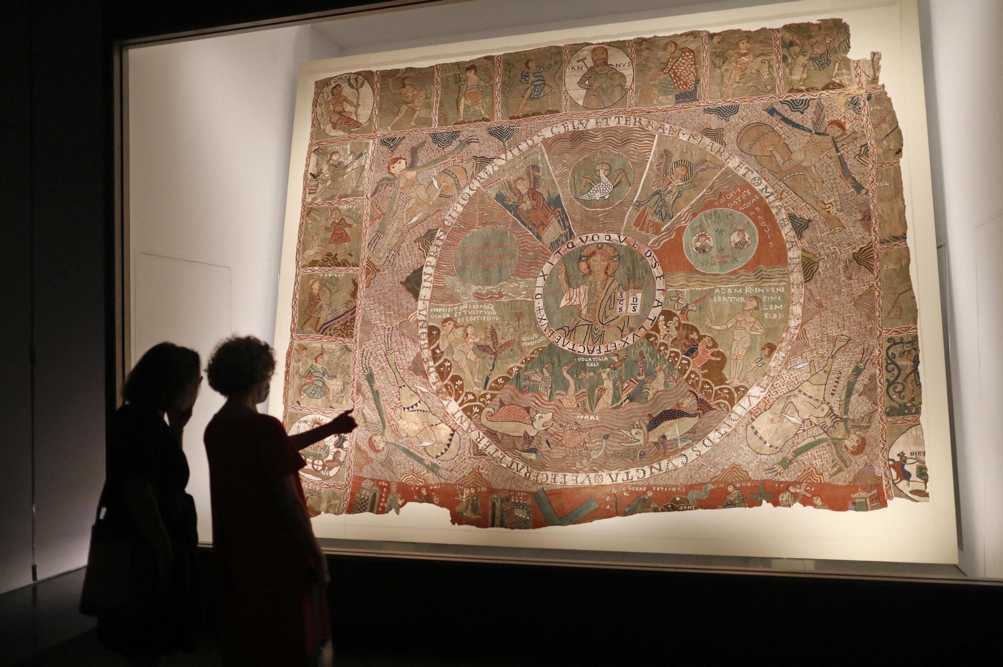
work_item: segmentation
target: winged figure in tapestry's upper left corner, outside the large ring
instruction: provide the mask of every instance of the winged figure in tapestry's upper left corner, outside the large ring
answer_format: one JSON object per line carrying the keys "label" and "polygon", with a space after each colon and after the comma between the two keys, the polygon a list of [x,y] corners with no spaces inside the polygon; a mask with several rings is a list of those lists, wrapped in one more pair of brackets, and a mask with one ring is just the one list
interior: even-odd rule
{"label": "winged figure in tapestry's upper left corner, outside the large ring", "polygon": [[[386,165],[386,170],[390,175],[380,178],[370,193],[371,197],[375,197],[384,188],[393,188],[386,208],[379,209],[375,203],[373,204],[376,206],[377,214],[380,217],[379,222],[376,224],[376,231],[369,241],[370,249],[374,249],[386,236],[387,228],[393,221],[394,214],[397,212],[397,207],[402,198],[407,200],[404,209],[405,216],[408,214],[411,215],[410,219],[404,224],[405,227],[416,223],[422,216],[427,216],[428,210],[434,210],[435,200],[443,189],[443,185],[440,185],[437,180],[432,179],[431,187],[429,187],[418,180],[418,174],[425,169],[448,162],[455,154],[466,148],[468,144],[475,143],[476,141],[475,137],[462,138],[451,150],[425,162],[418,161],[418,154],[425,145],[424,141],[411,146],[407,158],[400,155],[390,158],[390,161]],[[401,196],[402,194],[403,197]],[[395,255],[391,253],[391,256]]]}

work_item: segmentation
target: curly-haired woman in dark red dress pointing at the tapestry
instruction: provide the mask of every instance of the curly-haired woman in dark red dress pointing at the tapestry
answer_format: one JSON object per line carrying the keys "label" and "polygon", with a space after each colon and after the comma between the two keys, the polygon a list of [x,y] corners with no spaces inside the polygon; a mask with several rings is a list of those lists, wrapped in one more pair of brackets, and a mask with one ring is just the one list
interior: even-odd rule
{"label": "curly-haired woman in dark red dress pointing at the tapestry", "polygon": [[330,577],[307,514],[299,452],[349,433],[355,420],[345,413],[287,436],[279,420],[259,414],[274,355],[254,337],[235,337],[207,369],[210,387],[227,398],[206,427],[225,664],[328,664]]}

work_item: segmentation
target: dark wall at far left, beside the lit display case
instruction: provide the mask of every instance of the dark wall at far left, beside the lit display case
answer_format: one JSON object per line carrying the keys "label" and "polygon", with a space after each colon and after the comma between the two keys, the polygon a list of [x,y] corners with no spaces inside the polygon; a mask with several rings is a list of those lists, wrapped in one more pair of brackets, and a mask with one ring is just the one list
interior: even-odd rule
{"label": "dark wall at far left, beside the lit display case", "polygon": [[57,5],[0,20],[0,593],[83,564],[104,473],[101,14]]}

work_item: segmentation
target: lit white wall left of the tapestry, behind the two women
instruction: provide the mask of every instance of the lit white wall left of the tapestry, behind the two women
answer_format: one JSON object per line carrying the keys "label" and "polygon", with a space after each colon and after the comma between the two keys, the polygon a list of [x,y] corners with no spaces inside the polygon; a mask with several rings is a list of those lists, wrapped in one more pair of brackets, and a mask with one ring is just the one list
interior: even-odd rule
{"label": "lit white wall left of the tapestry, behind the two women", "polygon": [[[204,364],[232,332],[272,340],[296,76],[337,54],[309,26],[129,51],[133,362],[163,340]],[[202,434],[221,403],[204,386],[185,437],[203,540]]]}

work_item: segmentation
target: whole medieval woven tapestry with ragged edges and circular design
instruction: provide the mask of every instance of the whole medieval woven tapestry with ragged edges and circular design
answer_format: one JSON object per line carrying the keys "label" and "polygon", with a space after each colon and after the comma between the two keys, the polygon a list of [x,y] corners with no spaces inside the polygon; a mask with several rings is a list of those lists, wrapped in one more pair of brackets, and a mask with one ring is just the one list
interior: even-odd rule
{"label": "whole medieval woven tapestry with ragged edges and circular design", "polygon": [[826,19],[318,80],[284,420],[359,428],[304,451],[311,513],[927,501],[902,133],[849,51]]}

